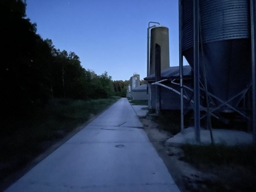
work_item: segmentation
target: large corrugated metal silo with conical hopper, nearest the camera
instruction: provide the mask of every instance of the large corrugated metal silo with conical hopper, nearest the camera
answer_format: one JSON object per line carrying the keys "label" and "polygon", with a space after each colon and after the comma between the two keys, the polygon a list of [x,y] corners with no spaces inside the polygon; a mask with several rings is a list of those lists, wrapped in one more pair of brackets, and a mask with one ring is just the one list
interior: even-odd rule
{"label": "large corrugated metal silo with conical hopper, nearest the camera", "polygon": [[[182,2],[182,52],[193,68],[193,0]],[[199,7],[203,41],[200,76],[205,65],[209,93],[227,102],[250,84],[249,1],[199,0]],[[243,96],[228,104],[237,107]],[[221,104],[217,100],[215,103]]]}

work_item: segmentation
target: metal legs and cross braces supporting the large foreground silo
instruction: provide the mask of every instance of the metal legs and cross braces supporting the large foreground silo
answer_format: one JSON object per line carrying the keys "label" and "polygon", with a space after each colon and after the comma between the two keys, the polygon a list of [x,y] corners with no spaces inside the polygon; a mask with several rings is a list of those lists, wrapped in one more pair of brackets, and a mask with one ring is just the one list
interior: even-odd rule
{"label": "metal legs and cross braces supporting the large foreground silo", "polygon": [[[194,0],[193,3],[193,14],[194,14],[194,112],[195,112],[195,140],[200,142],[200,119],[204,118],[205,116],[200,117],[200,94],[199,90],[204,90],[204,88],[200,87],[200,80],[199,80],[199,0]],[[253,142],[256,143],[256,67],[255,67],[255,59],[256,59],[256,2],[255,0],[250,0],[250,23],[251,23],[251,64],[252,64],[252,128],[253,128]],[[179,59],[180,59],[180,93],[183,93],[183,54],[182,54],[182,0],[179,0]],[[232,107],[228,104],[231,100],[235,99],[237,96],[246,93],[249,90],[249,87],[245,88],[243,91],[238,93],[236,96],[233,96],[227,102],[222,101],[218,97],[214,96],[213,94],[208,93],[209,96],[215,98],[222,104],[217,106],[216,108],[210,109],[209,114],[212,115],[213,111],[216,111],[223,105],[226,105],[230,109],[236,111],[241,116],[249,119],[249,117],[239,111],[238,109]],[[189,88],[189,87],[186,87]],[[181,103],[181,128],[183,130],[183,94],[180,94],[180,103]],[[185,97],[184,97],[185,98]]]}

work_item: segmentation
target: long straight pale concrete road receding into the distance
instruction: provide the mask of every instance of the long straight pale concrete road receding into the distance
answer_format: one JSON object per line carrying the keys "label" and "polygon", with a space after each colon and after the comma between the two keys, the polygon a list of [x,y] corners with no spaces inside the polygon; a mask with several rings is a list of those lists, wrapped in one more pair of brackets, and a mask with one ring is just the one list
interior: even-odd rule
{"label": "long straight pale concrete road receding into the distance", "polygon": [[126,98],[6,192],[178,192]]}

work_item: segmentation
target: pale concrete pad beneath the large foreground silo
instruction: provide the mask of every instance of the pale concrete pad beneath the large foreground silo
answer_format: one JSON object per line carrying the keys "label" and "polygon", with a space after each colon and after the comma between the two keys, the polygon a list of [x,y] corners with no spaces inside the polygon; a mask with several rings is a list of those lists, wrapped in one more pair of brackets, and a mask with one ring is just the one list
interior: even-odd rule
{"label": "pale concrete pad beneath the large foreground silo", "polygon": [[[201,143],[210,144],[211,137],[210,131],[201,129]],[[239,145],[239,144],[251,144],[253,142],[253,136],[250,133],[244,131],[233,131],[224,129],[212,129],[212,135],[214,143],[223,145]],[[195,130],[193,127],[186,128],[184,133],[178,133],[174,137],[166,141],[166,144],[181,145],[184,143],[196,144]]]}

